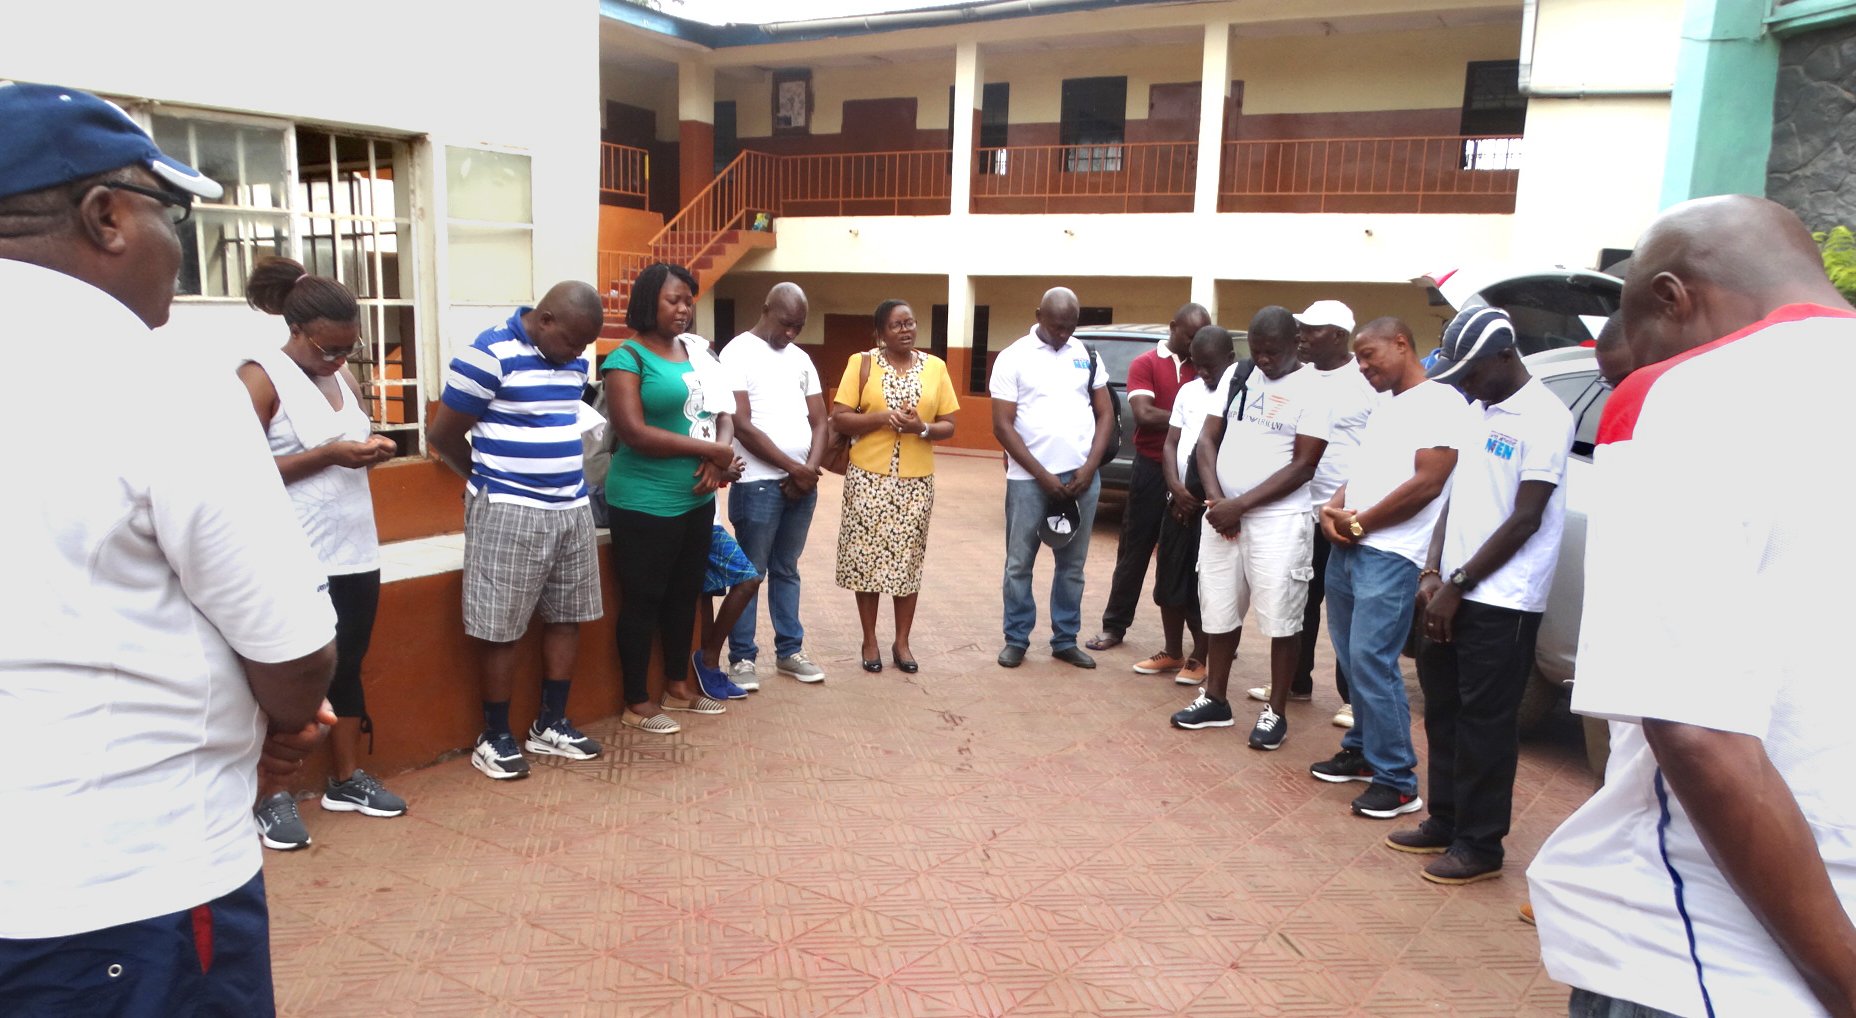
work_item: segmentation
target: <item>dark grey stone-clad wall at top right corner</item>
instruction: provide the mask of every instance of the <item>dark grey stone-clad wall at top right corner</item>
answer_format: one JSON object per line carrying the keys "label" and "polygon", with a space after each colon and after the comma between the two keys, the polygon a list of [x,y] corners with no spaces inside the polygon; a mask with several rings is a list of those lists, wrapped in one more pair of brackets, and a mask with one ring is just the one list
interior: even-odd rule
{"label": "dark grey stone-clad wall at top right corner", "polygon": [[1813,230],[1856,227],[1856,24],[1784,41],[1765,193]]}

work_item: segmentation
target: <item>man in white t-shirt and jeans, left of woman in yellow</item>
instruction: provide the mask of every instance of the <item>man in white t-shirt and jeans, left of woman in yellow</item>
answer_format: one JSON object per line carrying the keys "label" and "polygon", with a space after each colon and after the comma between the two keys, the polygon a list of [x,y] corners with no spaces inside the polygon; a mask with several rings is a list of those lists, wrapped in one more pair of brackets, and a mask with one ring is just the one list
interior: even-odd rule
{"label": "man in white t-shirt and jeans, left of woman in yellow", "polygon": [[[793,342],[802,329],[806,292],[780,282],[767,292],[754,329],[722,347],[722,364],[735,375],[735,451],[748,464],[728,489],[728,522],[767,578],[776,669],[800,682],[824,682],[824,669],[806,658],[800,624],[800,554],[818,507],[824,461],[824,388],[811,357]],[[728,633],[731,678],[748,691],[761,687],[754,643],[759,604],[759,594],[748,598]]]}

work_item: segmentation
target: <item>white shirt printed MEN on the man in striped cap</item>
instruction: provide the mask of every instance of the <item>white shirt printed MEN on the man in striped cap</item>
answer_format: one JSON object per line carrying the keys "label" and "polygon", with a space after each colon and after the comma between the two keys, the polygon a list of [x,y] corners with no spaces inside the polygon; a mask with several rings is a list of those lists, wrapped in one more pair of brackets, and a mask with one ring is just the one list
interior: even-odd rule
{"label": "white shirt printed MEN on the man in striped cap", "polygon": [[1514,396],[1485,407],[1470,403],[1457,470],[1450,476],[1450,516],[1444,522],[1442,572],[1450,576],[1489,542],[1513,513],[1522,481],[1553,485],[1540,529],[1533,531],[1502,568],[1483,576],[1464,600],[1514,611],[1546,611],[1546,593],[1559,565],[1559,537],[1566,528],[1566,451],[1572,412],[1539,379]]}

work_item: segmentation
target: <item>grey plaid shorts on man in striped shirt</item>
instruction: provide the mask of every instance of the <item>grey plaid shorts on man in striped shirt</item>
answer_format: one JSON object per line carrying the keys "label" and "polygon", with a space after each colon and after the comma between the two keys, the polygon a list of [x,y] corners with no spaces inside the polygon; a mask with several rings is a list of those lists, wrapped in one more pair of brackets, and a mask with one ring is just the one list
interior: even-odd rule
{"label": "grey plaid shorts on man in striped shirt", "polygon": [[512,643],[536,613],[542,622],[592,622],[603,613],[592,511],[471,496],[464,507],[464,632]]}

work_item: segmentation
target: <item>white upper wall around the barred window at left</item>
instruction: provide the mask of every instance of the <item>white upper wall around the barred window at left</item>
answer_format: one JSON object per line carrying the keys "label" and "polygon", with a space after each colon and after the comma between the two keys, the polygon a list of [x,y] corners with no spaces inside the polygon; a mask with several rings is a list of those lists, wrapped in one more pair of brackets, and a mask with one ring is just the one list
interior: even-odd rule
{"label": "white upper wall around the barred window at left", "polygon": [[[314,11],[256,4],[206,19],[126,0],[102,7],[52,4],[35,9],[30,26],[0,32],[0,76],[425,139],[414,154],[414,219],[425,254],[427,366],[509,316],[509,308],[440,303],[445,230],[434,175],[444,175],[447,145],[531,158],[535,271],[523,290],[592,277],[601,115],[596,4],[531,4],[520,17],[460,13],[438,0],[336,0]],[[243,338],[252,329],[277,334],[278,325],[243,303],[180,299],[169,329]]]}

